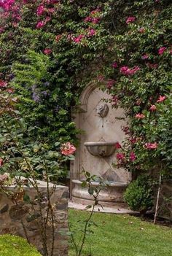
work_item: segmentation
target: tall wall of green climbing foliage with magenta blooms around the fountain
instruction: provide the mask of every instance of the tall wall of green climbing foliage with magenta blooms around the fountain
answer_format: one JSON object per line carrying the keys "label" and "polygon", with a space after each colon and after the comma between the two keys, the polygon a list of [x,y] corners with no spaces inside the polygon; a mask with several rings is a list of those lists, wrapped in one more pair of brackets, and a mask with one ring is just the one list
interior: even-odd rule
{"label": "tall wall of green climbing foliage with magenta blooms around the fountain", "polygon": [[171,174],[171,9],[170,0],[9,4],[1,14],[1,79],[39,128],[34,138],[52,148],[76,142],[71,107],[92,81],[130,120],[118,166]]}

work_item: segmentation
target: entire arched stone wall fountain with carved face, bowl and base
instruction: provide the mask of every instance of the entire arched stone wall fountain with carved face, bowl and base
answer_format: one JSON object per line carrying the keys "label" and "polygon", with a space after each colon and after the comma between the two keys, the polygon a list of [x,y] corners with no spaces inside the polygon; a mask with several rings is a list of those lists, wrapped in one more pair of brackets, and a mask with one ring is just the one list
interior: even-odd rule
{"label": "entire arched stone wall fountain with carved face, bowl and base", "polygon": [[[126,125],[124,109],[113,109],[108,102],[109,95],[88,85],[80,98],[81,106],[74,115],[77,128],[83,131],[76,158],[71,163],[71,200],[88,204],[92,200],[87,188],[82,188],[85,177],[82,170],[91,175],[103,177],[109,182],[101,191],[99,201],[103,206],[125,207],[122,194],[130,182],[130,174],[122,168],[114,168],[116,144],[125,138],[121,127]],[[93,182],[98,186],[98,182]]]}

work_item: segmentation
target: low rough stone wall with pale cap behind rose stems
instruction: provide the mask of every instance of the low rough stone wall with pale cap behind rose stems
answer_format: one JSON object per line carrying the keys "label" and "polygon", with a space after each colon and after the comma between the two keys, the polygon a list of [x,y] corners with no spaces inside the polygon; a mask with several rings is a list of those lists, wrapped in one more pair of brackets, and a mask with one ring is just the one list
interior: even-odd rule
{"label": "low rough stone wall with pale cap behind rose stems", "polygon": [[[42,225],[40,206],[45,219],[47,217],[47,183],[39,182],[38,184],[39,191],[43,195],[41,203],[36,202],[36,191],[33,187],[26,187],[25,189],[25,197],[28,198],[29,196],[31,201],[34,202],[32,204],[19,200],[16,205],[6,195],[0,193],[0,234],[10,233],[24,238],[27,236],[31,244],[34,244],[39,252],[44,255],[42,236],[40,235],[40,229],[42,229],[40,227]],[[53,185],[50,184],[50,190],[52,187]],[[10,190],[14,189],[11,188]],[[68,236],[66,234],[68,231],[68,197],[68,187],[63,186],[57,186],[50,197],[55,227],[54,256],[68,255]],[[50,255],[52,248],[51,214],[48,217],[46,232],[47,249]]]}

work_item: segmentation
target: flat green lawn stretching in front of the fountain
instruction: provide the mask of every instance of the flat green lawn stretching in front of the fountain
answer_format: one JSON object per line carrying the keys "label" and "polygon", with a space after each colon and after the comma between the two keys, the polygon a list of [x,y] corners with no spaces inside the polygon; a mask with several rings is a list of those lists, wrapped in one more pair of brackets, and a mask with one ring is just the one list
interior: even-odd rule
{"label": "flat green lawn stretching in front of the fountain", "polygon": [[[72,225],[84,220],[87,212],[70,210]],[[129,215],[95,213],[98,228],[87,238],[83,255],[91,256],[170,256],[172,255],[172,228],[143,222]],[[77,223],[77,224],[76,224]],[[69,256],[73,256],[71,245]],[[90,256],[90,255],[89,255]]]}

